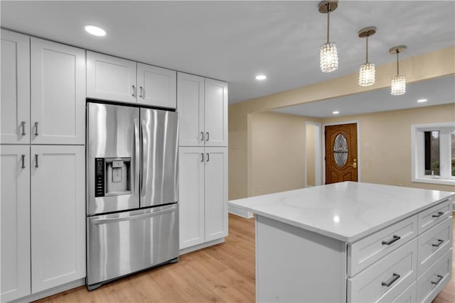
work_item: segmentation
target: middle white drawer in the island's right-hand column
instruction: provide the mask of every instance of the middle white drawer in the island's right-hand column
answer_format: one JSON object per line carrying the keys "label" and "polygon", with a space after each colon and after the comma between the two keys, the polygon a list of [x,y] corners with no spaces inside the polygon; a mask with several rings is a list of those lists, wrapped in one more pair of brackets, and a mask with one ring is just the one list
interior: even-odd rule
{"label": "middle white drawer in the island's right-hand column", "polygon": [[451,247],[451,239],[451,216],[419,236],[417,240],[419,251],[417,275],[422,275],[436,260],[441,258],[441,255]]}

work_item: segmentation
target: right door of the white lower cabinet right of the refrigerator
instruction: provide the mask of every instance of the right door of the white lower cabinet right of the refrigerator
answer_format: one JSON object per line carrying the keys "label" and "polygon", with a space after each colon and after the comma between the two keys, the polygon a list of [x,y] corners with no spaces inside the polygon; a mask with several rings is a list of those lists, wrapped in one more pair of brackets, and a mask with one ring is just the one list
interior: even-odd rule
{"label": "right door of the white lower cabinet right of the refrigerator", "polygon": [[205,148],[205,241],[228,236],[228,148]]}

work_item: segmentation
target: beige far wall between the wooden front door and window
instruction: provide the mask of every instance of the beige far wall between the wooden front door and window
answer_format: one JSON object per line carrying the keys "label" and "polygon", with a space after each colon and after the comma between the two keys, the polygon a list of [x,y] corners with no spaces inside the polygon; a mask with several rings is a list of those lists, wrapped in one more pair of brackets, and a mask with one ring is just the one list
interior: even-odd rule
{"label": "beige far wall between the wooden front door and window", "polygon": [[[362,182],[455,191],[452,185],[411,182],[411,125],[455,121],[455,104],[323,119],[322,123],[360,123]],[[365,144],[370,148],[365,148]]]}

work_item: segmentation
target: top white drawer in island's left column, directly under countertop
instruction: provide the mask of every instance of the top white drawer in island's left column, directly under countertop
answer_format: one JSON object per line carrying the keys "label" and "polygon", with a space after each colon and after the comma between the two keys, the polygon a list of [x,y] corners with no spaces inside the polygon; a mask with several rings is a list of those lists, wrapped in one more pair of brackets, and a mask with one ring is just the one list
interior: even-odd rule
{"label": "top white drawer in island's left column, directly under countertop", "polygon": [[[349,244],[348,277],[353,277],[415,236],[417,236],[417,215]],[[397,237],[400,238],[397,239]]]}

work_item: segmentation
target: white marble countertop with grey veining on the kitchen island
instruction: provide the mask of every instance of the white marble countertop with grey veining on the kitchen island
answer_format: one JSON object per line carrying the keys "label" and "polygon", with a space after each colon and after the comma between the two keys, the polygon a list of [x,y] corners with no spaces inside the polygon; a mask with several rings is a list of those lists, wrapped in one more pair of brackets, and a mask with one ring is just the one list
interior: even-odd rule
{"label": "white marble countertop with grey veining on the kitchen island", "polygon": [[341,182],[231,200],[230,206],[353,243],[454,197],[454,192]]}

